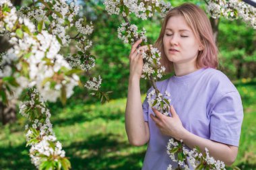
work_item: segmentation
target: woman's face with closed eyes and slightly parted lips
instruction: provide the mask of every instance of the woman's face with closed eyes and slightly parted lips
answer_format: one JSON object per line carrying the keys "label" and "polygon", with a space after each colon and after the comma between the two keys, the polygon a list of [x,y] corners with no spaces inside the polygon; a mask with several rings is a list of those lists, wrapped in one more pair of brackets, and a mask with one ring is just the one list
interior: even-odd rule
{"label": "woman's face with closed eyes and slightly parted lips", "polygon": [[163,38],[164,52],[174,64],[195,64],[199,41],[187,25],[183,16],[173,16],[168,19]]}

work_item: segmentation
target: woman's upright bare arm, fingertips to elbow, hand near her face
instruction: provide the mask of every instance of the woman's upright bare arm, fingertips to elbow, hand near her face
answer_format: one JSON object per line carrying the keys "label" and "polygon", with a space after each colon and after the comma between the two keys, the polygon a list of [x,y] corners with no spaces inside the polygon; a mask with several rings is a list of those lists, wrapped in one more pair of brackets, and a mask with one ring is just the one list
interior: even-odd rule
{"label": "woman's upright bare arm, fingertips to elbow, hand near her face", "polygon": [[139,79],[142,73],[143,60],[141,53],[137,52],[138,50],[145,50],[147,47],[141,46],[137,49],[137,46],[140,43],[141,40],[138,40],[133,44],[129,55],[130,75],[125,110],[125,129],[129,142],[134,146],[146,144],[150,138],[148,122],[144,122],[143,118],[141,94],[139,89]]}

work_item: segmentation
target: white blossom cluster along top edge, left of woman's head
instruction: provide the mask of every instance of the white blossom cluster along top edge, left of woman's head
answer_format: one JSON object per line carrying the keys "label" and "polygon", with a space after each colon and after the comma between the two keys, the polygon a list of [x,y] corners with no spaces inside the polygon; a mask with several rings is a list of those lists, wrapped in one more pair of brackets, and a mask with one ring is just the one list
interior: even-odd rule
{"label": "white blossom cluster along top edge, left of woman's head", "polygon": [[158,0],[105,0],[104,5],[109,15],[119,15],[121,13],[123,17],[127,17],[131,13],[134,13],[136,17],[141,19],[152,17],[155,11],[164,15],[171,8],[170,3]]}

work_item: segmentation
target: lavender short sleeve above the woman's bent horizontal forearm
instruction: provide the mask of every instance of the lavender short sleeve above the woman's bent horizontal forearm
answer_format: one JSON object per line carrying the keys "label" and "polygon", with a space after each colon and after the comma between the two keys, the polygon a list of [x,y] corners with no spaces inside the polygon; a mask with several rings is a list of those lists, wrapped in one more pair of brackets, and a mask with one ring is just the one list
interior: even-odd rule
{"label": "lavender short sleeve above the woman's bent horizontal forearm", "polygon": [[210,140],[239,145],[243,105],[238,91],[224,94],[210,114]]}

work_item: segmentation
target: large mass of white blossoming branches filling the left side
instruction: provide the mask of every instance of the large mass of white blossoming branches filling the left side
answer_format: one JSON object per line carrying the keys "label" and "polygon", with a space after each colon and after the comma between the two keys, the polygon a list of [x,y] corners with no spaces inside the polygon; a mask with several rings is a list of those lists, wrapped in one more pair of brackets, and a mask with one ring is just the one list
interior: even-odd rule
{"label": "large mass of white blossoming branches filling the left side", "polygon": [[[20,114],[28,118],[27,146],[38,169],[70,169],[61,142],[57,141],[46,101],[65,103],[75,86],[82,87],[79,76],[88,81],[84,87],[101,101],[107,93],[99,90],[102,79],[92,77],[95,56],[90,54],[92,23],[79,18],[76,0],[38,0],[32,7],[18,11],[9,0],[0,1],[0,34],[9,36],[11,48],[1,54],[1,102],[21,99]],[[67,30],[75,28],[71,37]],[[61,47],[76,43],[76,52],[61,54]]]}

